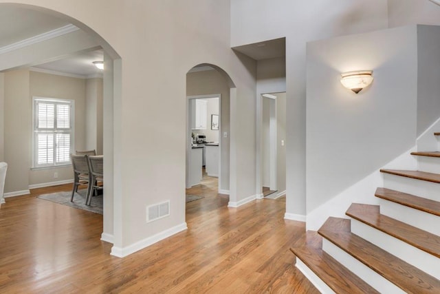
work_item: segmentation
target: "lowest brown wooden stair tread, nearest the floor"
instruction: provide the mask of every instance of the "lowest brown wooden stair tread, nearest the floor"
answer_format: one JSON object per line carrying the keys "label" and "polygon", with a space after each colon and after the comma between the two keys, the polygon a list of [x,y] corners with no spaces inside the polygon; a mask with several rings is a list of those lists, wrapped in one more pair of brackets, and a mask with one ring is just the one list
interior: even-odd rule
{"label": "lowest brown wooden stair tread, nearest the floor", "polygon": [[[307,231],[307,242],[290,250],[336,293],[379,293],[337,260],[317,248],[322,242],[317,232]],[[315,241],[313,241],[313,239]],[[299,244],[296,243],[298,246]]]}

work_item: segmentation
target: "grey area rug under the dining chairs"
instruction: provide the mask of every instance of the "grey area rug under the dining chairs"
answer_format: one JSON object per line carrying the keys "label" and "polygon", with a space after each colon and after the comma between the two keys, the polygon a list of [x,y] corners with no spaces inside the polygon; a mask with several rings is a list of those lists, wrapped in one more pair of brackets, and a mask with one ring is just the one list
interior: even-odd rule
{"label": "grey area rug under the dining chairs", "polygon": [[67,205],[69,207],[74,207],[76,209],[83,209],[91,211],[94,213],[102,213],[102,194],[98,196],[93,196],[91,198],[90,206],[85,204],[85,197],[87,194],[87,189],[80,189],[74,196],[74,202],[70,202],[70,197],[72,196],[72,191],[69,192],[57,192],[38,196],[40,199],[48,200],[51,202],[56,202],[58,204]]}

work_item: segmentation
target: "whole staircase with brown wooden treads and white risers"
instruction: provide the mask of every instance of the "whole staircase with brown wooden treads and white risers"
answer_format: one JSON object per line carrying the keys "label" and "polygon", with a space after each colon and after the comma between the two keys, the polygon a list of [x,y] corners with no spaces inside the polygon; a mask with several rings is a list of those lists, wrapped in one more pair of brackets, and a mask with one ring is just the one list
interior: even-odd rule
{"label": "whole staircase with brown wooden treads and white risers", "polygon": [[[440,167],[439,151],[411,154]],[[440,173],[380,171],[380,205],[353,203],[307,231],[296,266],[322,293],[440,293]]]}

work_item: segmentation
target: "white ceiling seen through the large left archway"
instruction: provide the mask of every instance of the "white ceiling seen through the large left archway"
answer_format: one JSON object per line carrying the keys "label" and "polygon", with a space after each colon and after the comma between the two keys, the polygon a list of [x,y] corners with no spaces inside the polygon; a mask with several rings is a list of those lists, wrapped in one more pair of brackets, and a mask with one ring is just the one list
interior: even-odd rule
{"label": "white ceiling seen through the large left archway", "polygon": [[[62,28],[65,25],[69,25],[69,22],[44,12],[2,5],[0,10],[0,50],[5,46]],[[100,70],[92,62],[102,60],[103,51],[96,50],[78,52],[74,56],[63,57],[63,59],[33,67],[37,70],[61,72],[75,76],[96,76],[100,74]]]}

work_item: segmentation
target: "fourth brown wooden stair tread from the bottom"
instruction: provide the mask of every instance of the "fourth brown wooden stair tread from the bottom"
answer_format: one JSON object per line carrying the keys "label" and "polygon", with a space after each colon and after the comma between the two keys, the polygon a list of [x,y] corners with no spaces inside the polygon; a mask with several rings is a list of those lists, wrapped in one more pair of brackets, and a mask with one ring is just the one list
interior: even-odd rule
{"label": "fourth brown wooden stair tread from the bottom", "polygon": [[393,201],[413,209],[440,216],[440,202],[386,188],[377,188],[376,197]]}

